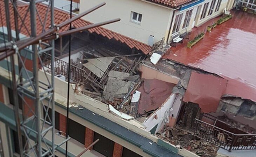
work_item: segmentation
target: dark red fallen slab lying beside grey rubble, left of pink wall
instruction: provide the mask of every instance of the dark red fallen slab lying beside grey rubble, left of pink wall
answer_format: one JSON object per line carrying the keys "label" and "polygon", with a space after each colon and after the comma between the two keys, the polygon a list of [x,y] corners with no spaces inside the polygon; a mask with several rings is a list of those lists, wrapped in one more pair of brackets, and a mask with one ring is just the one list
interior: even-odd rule
{"label": "dark red fallen slab lying beside grey rubble, left of pink wall", "polygon": [[138,113],[143,114],[161,106],[171,95],[175,85],[157,79],[145,79],[138,89],[141,92]]}

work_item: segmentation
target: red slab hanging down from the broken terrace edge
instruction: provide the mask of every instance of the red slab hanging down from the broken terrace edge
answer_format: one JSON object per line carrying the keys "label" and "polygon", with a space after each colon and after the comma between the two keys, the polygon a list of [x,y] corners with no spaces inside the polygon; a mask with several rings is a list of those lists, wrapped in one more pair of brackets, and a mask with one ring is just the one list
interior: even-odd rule
{"label": "red slab hanging down from the broken terrace edge", "polygon": [[183,101],[198,104],[204,113],[216,112],[226,85],[224,78],[192,72]]}

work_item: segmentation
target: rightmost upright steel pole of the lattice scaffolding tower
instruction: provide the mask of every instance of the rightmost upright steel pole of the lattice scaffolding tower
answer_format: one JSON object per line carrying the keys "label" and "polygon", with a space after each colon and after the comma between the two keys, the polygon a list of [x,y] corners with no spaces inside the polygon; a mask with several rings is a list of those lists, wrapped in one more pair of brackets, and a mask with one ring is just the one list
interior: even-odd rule
{"label": "rightmost upright steel pole of the lattice scaffolding tower", "polygon": [[[54,0],[52,0],[51,6],[51,27],[54,27]],[[55,135],[55,99],[54,99],[54,75],[55,75],[55,67],[54,67],[54,40],[51,41],[52,44],[52,54],[51,54],[51,72],[52,72],[52,154],[54,156],[55,151],[55,143],[54,143],[54,135]]]}

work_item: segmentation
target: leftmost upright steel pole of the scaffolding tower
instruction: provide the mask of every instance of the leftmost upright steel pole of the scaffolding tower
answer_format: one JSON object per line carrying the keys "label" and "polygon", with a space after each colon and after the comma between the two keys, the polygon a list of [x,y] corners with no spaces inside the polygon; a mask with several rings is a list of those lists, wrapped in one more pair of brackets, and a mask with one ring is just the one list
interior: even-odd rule
{"label": "leftmost upright steel pole of the scaffolding tower", "polygon": [[[7,26],[8,41],[11,41],[12,40],[12,30],[11,30],[11,23],[10,23],[9,0],[5,0],[5,14],[6,14],[6,26]],[[22,137],[21,137],[20,118],[19,118],[19,103],[18,103],[15,64],[14,64],[13,55],[11,55],[10,58],[11,58],[11,68],[12,68],[14,116],[15,116],[16,128],[17,128],[17,133],[18,133],[18,143],[19,143],[20,156],[23,157]],[[8,63],[8,60],[7,60],[7,63]]]}

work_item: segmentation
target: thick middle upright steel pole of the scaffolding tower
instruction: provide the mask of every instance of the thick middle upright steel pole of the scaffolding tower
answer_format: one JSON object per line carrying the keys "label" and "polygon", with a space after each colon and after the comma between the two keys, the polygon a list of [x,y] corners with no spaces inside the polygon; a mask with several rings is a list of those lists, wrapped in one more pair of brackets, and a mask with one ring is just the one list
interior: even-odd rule
{"label": "thick middle upright steel pole of the scaffolding tower", "polygon": [[[31,36],[36,36],[36,6],[35,0],[30,2],[30,21],[31,21]],[[42,140],[41,140],[41,112],[40,112],[40,100],[39,100],[39,80],[38,80],[38,50],[37,45],[32,45],[33,51],[33,84],[35,87],[35,113],[36,113],[36,132],[37,132],[37,156],[42,156]]]}

